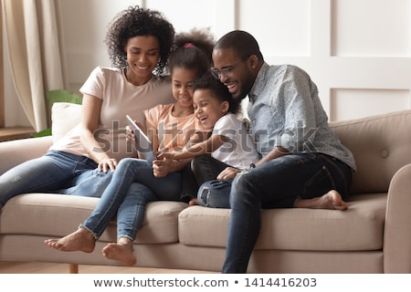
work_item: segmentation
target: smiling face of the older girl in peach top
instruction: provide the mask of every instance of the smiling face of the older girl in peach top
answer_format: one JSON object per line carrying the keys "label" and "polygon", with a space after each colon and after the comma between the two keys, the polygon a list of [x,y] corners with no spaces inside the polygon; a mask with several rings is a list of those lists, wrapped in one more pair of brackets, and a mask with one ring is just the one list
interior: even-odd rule
{"label": "smiling face of the older girl in peach top", "polygon": [[193,82],[197,71],[183,67],[173,68],[171,74],[173,96],[182,107],[193,107]]}

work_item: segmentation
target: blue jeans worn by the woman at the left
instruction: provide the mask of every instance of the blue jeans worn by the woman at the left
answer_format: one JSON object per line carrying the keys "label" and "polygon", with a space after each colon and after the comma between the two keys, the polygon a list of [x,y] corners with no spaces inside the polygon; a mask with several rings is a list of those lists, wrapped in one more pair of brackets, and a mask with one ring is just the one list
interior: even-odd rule
{"label": "blue jeans worn by the woman at the left", "polygon": [[[87,157],[63,151],[48,151],[45,155],[23,162],[0,176],[0,209],[21,193],[59,193],[96,173],[97,163]],[[111,174],[100,172],[90,192],[73,193],[99,197]],[[91,186],[90,183],[84,185]]]}

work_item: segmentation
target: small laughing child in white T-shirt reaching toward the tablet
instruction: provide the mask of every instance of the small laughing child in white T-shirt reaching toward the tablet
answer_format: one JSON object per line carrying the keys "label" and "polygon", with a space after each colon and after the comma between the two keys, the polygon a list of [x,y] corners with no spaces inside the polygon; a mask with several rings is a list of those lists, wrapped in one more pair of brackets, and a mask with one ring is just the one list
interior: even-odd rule
{"label": "small laughing child in white T-shirt reaching toward the tablet", "polygon": [[[246,170],[254,162],[258,162],[259,156],[254,141],[248,135],[244,123],[237,120],[238,100],[232,98],[227,87],[211,73],[206,73],[202,78],[195,80],[194,90],[195,116],[205,129],[212,130],[211,136],[205,141],[200,141],[204,137],[202,133],[196,133],[184,150],[162,153],[161,157],[174,160],[195,157],[192,169],[198,185],[216,179],[224,180],[226,172],[231,168]],[[224,198],[225,203],[211,202],[207,199],[206,193],[206,188],[199,190],[200,204],[209,207],[229,207],[227,198]],[[195,199],[190,201],[190,204],[196,203]]]}

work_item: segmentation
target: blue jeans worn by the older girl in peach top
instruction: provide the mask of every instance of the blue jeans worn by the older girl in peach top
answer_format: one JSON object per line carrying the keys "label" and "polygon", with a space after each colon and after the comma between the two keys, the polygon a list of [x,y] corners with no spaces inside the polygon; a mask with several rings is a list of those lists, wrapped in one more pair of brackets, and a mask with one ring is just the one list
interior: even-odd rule
{"label": "blue jeans worn by the older girl in peach top", "polygon": [[181,172],[156,178],[151,163],[124,158],[113,172],[111,183],[101,194],[99,204],[80,227],[86,228],[98,239],[117,214],[117,237],[127,237],[133,241],[144,219],[146,203],[179,201],[181,188]]}

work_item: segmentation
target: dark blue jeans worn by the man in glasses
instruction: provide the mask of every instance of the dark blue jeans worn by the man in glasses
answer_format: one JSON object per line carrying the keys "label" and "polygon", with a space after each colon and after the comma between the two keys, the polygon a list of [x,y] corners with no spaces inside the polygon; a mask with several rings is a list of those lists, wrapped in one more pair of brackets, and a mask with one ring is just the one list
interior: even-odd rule
{"label": "dark blue jeans worn by the man in glasses", "polygon": [[[238,174],[233,183],[208,182],[208,197],[220,196],[221,205],[231,207],[227,253],[223,273],[246,273],[256,244],[262,208],[292,208],[297,198],[311,199],[337,190],[346,200],[351,187],[351,169],[320,153],[282,156]],[[214,188],[213,188],[214,187]],[[220,206],[221,206],[220,205]],[[220,207],[215,205],[215,207]]]}

